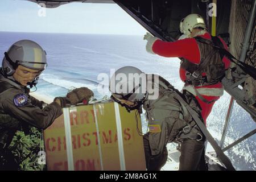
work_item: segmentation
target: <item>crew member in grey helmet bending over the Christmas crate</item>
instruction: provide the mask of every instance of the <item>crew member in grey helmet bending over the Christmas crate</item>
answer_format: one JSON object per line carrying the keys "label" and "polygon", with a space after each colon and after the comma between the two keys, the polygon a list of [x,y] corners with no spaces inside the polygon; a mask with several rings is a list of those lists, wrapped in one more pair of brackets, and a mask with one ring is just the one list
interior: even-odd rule
{"label": "crew member in grey helmet bending over the Christmas crate", "polygon": [[[130,75],[139,77],[130,79]],[[126,76],[126,79],[120,81],[119,76]],[[143,77],[146,78],[144,82],[141,79]],[[181,94],[164,78],[146,75],[135,67],[119,68],[109,85],[113,100],[128,111],[141,110],[142,106],[146,110],[149,132],[143,135],[143,144],[148,171],[160,170],[166,164],[168,142],[182,142],[179,170],[207,170],[204,159],[205,137],[184,105],[187,102],[201,118],[195,99]],[[159,94],[151,97],[150,88],[153,87],[155,93]],[[181,102],[181,99],[184,101]]]}

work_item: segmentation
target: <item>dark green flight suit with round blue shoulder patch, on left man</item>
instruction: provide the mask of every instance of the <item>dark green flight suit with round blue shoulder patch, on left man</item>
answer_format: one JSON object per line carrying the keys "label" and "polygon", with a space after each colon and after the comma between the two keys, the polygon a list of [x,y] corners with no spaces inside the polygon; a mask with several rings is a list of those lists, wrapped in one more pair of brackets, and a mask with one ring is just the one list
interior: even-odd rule
{"label": "dark green flight suit with round blue shoulder patch, on left man", "polygon": [[52,102],[46,105],[30,96],[29,92],[26,86],[0,73],[0,170],[1,165],[5,169],[3,165],[9,168],[6,163],[12,163],[11,152],[7,150],[17,130],[28,125],[44,130],[62,114],[59,104]]}

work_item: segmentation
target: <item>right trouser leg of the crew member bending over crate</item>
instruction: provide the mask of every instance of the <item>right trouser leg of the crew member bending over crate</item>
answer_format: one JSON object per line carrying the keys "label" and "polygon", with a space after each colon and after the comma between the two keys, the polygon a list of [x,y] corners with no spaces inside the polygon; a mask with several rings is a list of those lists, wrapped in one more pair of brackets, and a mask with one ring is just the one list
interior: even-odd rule
{"label": "right trouser leg of the crew member bending over crate", "polygon": [[181,143],[179,171],[206,171],[205,142],[185,139]]}

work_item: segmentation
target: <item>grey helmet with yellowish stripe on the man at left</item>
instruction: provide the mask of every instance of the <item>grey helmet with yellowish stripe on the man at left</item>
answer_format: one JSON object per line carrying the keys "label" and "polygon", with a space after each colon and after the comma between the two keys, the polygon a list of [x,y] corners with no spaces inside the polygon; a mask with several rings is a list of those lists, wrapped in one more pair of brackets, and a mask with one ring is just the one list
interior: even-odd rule
{"label": "grey helmet with yellowish stripe on the man at left", "polygon": [[6,76],[11,76],[18,65],[44,71],[47,67],[46,51],[38,43],[31,40],[15,42],[5,52],[5,57],[3,57],[2,61],[2,71]]}

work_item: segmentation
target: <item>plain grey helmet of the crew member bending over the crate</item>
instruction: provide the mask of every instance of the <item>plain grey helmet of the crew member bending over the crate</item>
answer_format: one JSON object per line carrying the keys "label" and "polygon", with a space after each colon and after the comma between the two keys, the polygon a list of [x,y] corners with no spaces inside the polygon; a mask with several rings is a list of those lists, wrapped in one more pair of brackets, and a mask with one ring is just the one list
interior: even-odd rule
{"label": "plain grey helmet of the crew member bending over the crate", "polygon": [[110,79],[109,90],[115,98],[138,104],[147,96],[146,74],[135,67],[122,67]]}

